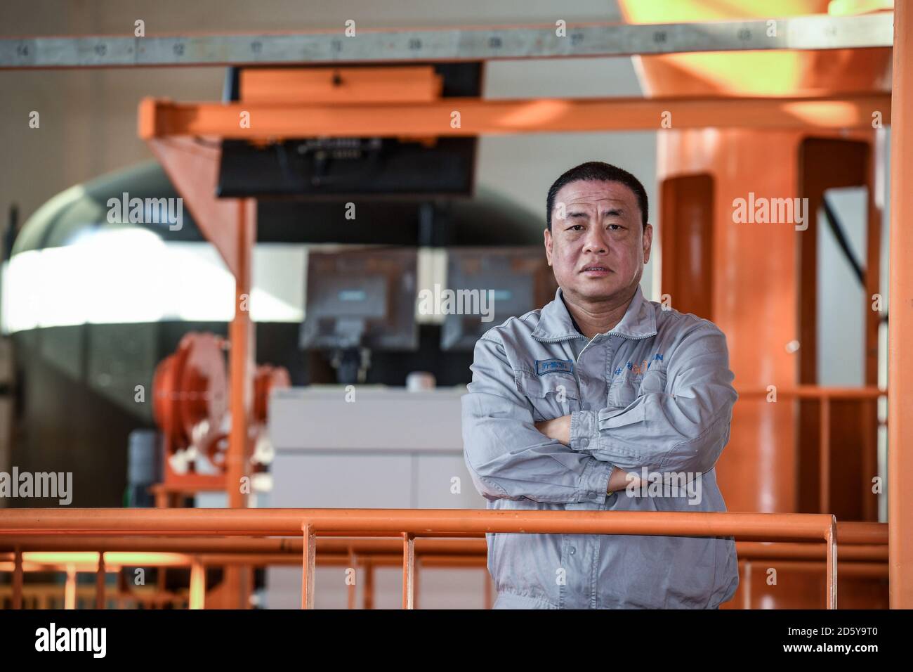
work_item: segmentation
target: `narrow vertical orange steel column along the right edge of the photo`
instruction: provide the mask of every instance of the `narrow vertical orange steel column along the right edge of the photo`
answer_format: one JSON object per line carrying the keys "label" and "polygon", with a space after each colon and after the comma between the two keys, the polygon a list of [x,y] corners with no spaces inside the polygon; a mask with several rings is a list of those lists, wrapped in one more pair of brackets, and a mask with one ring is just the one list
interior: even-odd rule
{"label": "narrow vertical orange steel column along the right edge of the photo", "polygon": [[894,8],[887,504],[891,609],[913,608],[913,7]]}

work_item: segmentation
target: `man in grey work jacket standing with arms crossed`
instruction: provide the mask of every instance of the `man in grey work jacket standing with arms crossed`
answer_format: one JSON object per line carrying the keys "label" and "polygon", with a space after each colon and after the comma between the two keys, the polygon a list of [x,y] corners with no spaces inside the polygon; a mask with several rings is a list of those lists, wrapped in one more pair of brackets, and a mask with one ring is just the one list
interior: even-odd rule
{"label": "man in grey work jacket standing with arms crossed", "polygon": [[[725,511],[714,465],[738,398],[726,337],[645,300],[643,185],[590,162],[546,208],[555,299],[478,340],[462,398],[477,490],[498,509]],[[731,538],[487,538],[496,609],[712,609],[739,584]]]}

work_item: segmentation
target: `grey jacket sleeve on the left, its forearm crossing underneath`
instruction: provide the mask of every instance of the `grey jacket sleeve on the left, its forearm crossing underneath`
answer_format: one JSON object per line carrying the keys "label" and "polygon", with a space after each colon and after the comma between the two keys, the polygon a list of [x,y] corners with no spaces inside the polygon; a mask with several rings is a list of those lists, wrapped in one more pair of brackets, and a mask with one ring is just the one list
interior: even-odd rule
{"label": "grey jacket sleeve on the left, its forearm crossing underneath", "polygon": [[463,445],[479,494],[488,500],[602,504],[614,465],[535,428],[530,400],[517,389],[498,336],[477,341],[470,369],[472,382],[462,397]]}

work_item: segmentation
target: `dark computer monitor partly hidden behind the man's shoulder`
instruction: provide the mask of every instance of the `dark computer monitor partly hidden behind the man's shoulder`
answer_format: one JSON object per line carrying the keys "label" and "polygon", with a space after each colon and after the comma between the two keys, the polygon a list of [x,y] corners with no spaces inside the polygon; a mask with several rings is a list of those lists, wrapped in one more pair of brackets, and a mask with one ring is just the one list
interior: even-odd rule
{"label": "dark computer monitor partly hidden behind the man's shoulder", "polygon": [[478,338],[492,326],[541,308],[555,297],[558,289],[545,260],[545,251],[539,246],[451,248],[447,250],[446,284],[456,307],[472,304],[472,301],[461,303],[460,292],[472,300],[483,292],[488,293],[488,303],[484,299],[478,302],[486,309],[485,315],[445,311],[442,350],[472,350]]}

